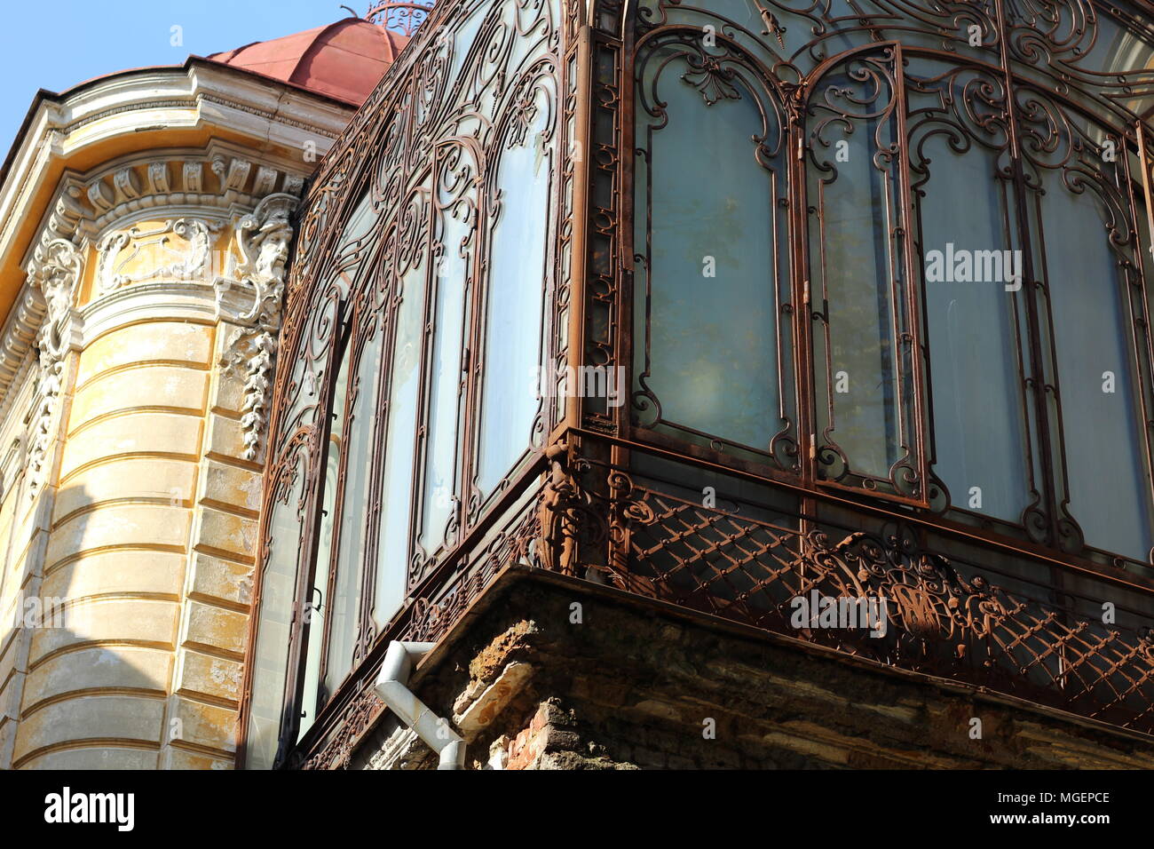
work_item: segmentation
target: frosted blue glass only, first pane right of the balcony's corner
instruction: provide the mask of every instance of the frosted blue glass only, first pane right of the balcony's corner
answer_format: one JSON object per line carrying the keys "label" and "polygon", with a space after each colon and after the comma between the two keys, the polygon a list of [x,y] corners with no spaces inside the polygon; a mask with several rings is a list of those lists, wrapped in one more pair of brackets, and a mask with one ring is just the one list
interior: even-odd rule
{"label": "frosted blue glass only, first pane right of the balcony's corner", "polygon": [[[659,64],[651,59],[647,68]],[[657,96],[668,103],[668,126],[652,134],[647,169],[652,176],[647,383],[660,401],[664,420],[767,450],[781,420],[774,330],[775,191],[773,173],[755,158],[754,142],[755,135],[765,133],[764,121],[744,85],[737,85],[740,99],[722,98],[709,106],[681,79],[682,69],[679,65],[659,81]],[[643,119],[638,144],[646,143],[646,129]],[[638,215],[644,216],[644,195],[638,204]],[[637,250],[644,252],[643,239]],[[635,307],[639,321],[644,297],[642,289]],[[635,344],[642,349],[643,342],[638,335]],[[643,363],[644,351],[637,356]],[[635,389],[636,380],[635,373]]]}

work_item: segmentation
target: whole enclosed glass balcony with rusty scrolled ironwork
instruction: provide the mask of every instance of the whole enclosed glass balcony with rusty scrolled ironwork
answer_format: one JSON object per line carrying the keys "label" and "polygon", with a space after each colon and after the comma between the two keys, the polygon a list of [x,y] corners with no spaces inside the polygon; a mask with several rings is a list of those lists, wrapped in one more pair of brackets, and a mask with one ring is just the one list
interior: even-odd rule
{"label": "whole enclosed glass balcony with rusty scrolled ironwork", "polygon": [[1152,12],[439,2],[306,201],[245,766],[515,572],[1148,757]]}

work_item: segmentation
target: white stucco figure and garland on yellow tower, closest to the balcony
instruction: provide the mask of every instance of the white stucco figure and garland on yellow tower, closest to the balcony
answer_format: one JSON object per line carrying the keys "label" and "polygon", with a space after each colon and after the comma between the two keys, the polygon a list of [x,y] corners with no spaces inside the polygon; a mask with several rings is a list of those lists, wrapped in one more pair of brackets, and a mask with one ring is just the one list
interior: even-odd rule
{"label": "white stucco figure and garland on yellow tower, closest to the balcony", "polygon": [[216,281],[217,315],[240,325],[225,365],[242,370],[245,401],[241,408],[243,456],[256,460],[268,419],[271,399],[269,389],[276,363],[276,338],[280,329],[284,303],[285,266],[292,245],[291,216],[298,200],[290,194],[270,194],[250,215],[237,222],[237,246],[241,254],[235,276],[242,291],[252,292],[252,305],[243,312],[228,314],[224,295],[232,281]]}

